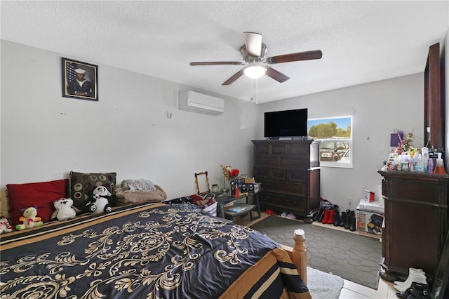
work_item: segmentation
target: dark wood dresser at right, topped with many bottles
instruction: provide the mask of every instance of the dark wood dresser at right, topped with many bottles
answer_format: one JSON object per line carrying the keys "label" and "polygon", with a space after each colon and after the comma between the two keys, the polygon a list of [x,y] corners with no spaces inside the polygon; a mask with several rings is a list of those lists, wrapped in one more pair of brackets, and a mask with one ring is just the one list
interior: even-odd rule
{"label": "dark wood dresser at right, topped with many bottles", "polygon": [[435,274],[448,230],[448,175],[378,171],[382,175],[385,218],[382,266],[408,274],[408,268]]}

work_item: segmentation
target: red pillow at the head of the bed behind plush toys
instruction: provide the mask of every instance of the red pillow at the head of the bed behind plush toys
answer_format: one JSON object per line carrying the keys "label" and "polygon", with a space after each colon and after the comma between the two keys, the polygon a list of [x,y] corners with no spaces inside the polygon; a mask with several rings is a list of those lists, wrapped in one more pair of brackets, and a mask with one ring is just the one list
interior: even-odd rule
{"label": "red pillow at the head of the bed behind plush toys", "polygon": [[23,215],[22,210],[30,206],[37,206],[37,216],[42,218],[43,223],[49,222],[55,211],[53,201],[67,197],[67,182],[68,180],[52,180],[6,185],[13,227],[22,223],[19,221]]}

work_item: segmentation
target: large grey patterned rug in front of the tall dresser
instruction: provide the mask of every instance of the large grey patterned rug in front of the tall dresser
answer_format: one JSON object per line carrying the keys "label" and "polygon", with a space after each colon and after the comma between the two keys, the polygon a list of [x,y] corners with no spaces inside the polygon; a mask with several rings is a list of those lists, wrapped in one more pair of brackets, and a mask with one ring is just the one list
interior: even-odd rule
{"label": "large grey patterned rug in front of the tall dresser", "polygon": [[269,216],[250,226],[279,244],[293,247],[293,231],[305,233],[307,266],[377,289],[382,245],[378,239]]}

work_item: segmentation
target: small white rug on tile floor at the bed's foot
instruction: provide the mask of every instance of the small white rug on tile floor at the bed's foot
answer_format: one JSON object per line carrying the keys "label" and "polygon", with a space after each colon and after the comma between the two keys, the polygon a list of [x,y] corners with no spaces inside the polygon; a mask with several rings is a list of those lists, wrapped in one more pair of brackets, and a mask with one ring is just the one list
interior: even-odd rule
{"label": "small white rug on tile floor at the bed's foot", "polygon": [[338,299],[343,285],[342,277],[307,267],[307,288],[311,298]]}

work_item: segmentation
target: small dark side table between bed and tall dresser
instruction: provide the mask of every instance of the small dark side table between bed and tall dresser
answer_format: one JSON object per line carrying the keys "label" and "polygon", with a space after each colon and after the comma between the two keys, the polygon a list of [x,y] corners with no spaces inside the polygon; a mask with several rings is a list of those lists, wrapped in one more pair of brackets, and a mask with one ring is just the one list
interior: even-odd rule
{"label": "small dark side table between bed and tall dresser", "polygon": [[[253,199],[255,199],[255,204],[248,204],[248,197],[252,195]],[[246,197],[246,204],[234,204],[233,206],[226,206],[229,202],[235,201],[236,199],[241,199]],[[221,194],[215,197],[215,201],[217,201],[218,211],[222,218],[226,218],[228,216],[231,220],[240,215],[250,214],[250,220],[253,221],[255,219],[260,218],[260,204],[259,204],[259,196],[257,193],[245,194],[241,197],[235,198],[231,197],[227,194]],[[238,208],[239,211],[229,211],[229,209]],[[253,211],[257,211],[257,215],[253,216]]]}

